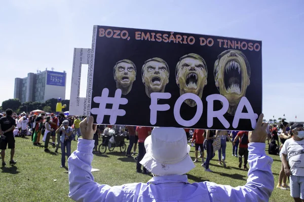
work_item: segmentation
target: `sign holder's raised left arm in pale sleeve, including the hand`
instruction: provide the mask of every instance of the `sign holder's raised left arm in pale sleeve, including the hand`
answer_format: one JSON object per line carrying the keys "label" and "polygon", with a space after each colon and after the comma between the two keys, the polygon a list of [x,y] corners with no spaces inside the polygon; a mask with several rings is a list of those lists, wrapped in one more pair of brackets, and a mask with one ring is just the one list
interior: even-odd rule
{"label": "sign holder's raised left arm in pale sleeve, including the hand", "polygon": [[[75,201],[129,201],[130,198],[124,193],[123,186],[109,186],[94,182],[91,173],[93,160],[94,141],[93,136],[96,125],[93,125],[93,117],[87,118],[80,123],[82,138],[78,140],[77,150],[68,158],[68,196]],[[130,194],[130,193],[129,193]],[[132,193],[131,193],[132,194]]]}

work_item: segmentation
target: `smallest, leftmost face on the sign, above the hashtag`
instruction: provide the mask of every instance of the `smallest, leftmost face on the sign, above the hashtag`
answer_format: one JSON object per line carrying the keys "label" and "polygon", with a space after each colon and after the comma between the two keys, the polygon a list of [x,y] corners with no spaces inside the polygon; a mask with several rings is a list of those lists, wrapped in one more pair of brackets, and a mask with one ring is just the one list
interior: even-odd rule
{"label": "smallest, leftmost face on the sign, above the hashtag", "polygon": [[118,89],[122,90],[122,94],[128,94],[133,82],[136,79],[136,67],[130,60],[121,60],[116,63],[113,68],[114,80]]}

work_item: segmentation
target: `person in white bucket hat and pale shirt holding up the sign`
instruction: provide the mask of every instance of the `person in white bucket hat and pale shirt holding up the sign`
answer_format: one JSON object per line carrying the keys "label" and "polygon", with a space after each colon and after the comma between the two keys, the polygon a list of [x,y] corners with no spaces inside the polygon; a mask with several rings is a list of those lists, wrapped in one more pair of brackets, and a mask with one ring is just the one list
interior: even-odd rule
{"label": "person in white bucket hat and pale shirt holding up the sign", "polygon": [[249,133],[248,179],[236,188],[213,182],[189,183],[187,172],[195,165],[189,156],[182,128],[156,127],[145,139],[146,154],[140,162],[155,177],[148,183],[109,186],[94,182],[91,173],[96,125],[89,117],[81,122],[83,138],[68,159],[69,197],[75,201],[268,201],[274,189],[272,158],[265,153],[266,127],[263,115]]}

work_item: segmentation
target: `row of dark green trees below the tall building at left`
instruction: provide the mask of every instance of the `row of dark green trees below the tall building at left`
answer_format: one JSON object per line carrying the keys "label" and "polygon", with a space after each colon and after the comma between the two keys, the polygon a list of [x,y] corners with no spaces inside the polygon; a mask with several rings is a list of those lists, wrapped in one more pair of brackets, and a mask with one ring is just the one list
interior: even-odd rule
{"label": "row of dark green trees below the tall building at left", "polygon": [[[64,111],[69,110],[69,100],[64,99],[62,100],[62,105],[66,105],[66,108],[64,108]],[[0,108],[0,111],[5,111],[7,109],[12,109],[16,113],[26,112],[29,113],[33,110],[43,110],[45,112],[55,112],[56,111],[56,104],[57,99],[51,98],[46,100],[45,103],[39,103],[39,102],[25,102],[21,103],[19,99],[8,99],[2,102],[2,106]]]}

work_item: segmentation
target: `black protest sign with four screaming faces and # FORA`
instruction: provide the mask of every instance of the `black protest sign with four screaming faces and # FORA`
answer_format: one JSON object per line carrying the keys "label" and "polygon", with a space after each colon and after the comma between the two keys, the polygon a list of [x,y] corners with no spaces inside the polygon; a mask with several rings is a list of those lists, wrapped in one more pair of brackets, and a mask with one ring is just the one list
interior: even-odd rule
{"label": "black protest sign with four screaming faces and # FORA", "polygon": [[86,104],[97,124],[252,130],[261,41],[94,26]]}

